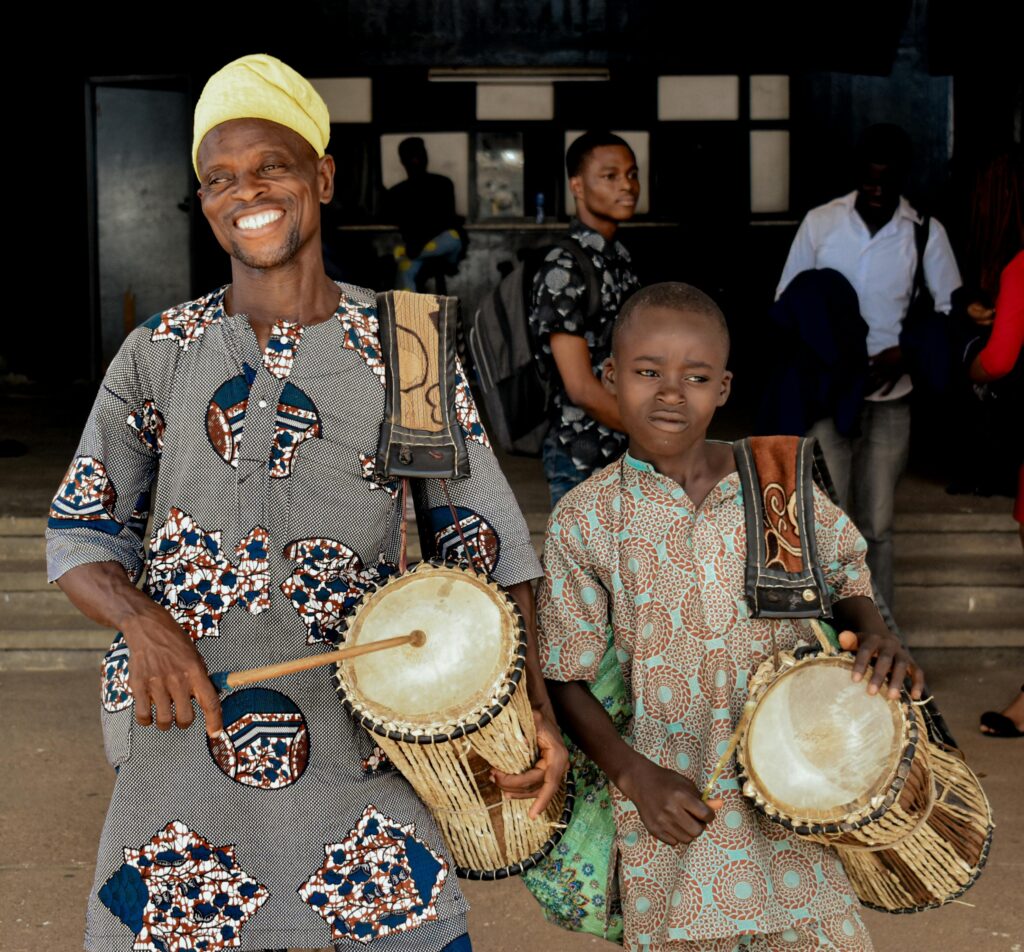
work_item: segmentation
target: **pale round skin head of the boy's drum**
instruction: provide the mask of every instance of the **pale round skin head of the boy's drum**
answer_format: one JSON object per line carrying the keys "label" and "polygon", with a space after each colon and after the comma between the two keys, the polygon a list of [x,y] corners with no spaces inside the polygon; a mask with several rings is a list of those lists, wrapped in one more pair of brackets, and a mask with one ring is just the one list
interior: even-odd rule
{"label": "pale round skin head of the boy's drum", "polygon": [[841,821],[885,794],[903,741],[898,701],[850,680],[845,658],[819,658],[782,674],[759,699],[746,766],[778,812]]}

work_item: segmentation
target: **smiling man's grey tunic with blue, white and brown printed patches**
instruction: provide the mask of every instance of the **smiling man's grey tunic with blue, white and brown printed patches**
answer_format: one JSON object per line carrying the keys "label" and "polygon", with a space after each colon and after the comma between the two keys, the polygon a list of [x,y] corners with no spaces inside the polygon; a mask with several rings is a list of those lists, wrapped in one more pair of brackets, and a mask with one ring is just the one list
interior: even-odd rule
{"label": "smiling man's grey tunic with blue, white and brown printed patches", "polygon": [[[125,342],[47,533],[50,578],[98,561],[132,579],[144,569],[146,591],[211,672],[331,649],[353,601],[394,571],[400,519],[396,487],[365,466],[384,416],[373,295],[342,286],[334,317],[279,324],[262,354],[222,298],[165,311]],[[449,488],[460,521],[486,542],[480,563],[515,585],[540,566],[461,372],[459,389],[473,475]],[[426,496],[459,557],[439,487]],[[119,635],[102,666],[118,778],[89,949],[373,941],[426,952],[465,932],[433,822],[344,713],[330,667],[228,694],[210,742],[202,716],[185,731],[135,724],[127,672]]]}

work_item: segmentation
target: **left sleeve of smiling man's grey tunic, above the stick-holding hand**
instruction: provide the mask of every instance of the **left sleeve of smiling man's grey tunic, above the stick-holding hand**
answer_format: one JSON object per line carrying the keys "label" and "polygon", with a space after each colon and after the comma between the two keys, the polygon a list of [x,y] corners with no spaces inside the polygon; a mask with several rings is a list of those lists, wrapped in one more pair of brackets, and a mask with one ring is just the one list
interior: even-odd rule
{"label": "left sleeve of smiling man's grey tunic, above the stick-holding hand", "polygon": [[120,562],[132,581],[142,571],[164,434],[161,409],[137,364],[137,347],[147,335],[135,331],[114,358],[53,496],[46,528],[50,581],[88,562]]}

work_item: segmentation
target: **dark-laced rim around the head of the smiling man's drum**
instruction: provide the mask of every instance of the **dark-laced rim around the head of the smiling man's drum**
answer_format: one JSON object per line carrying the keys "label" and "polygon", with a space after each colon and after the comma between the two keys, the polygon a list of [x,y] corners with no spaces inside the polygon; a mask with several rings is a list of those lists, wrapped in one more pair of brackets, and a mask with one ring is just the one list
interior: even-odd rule
{"label": "dark-laced rim around the head of the smiling man's drum", "polygon": [[490,581],[486,576],[479,575],[468,562],[445,562],[440,559],[429,559],[414,565],[408,572],[403,572],[400,575],[392,575],[386,578],[382,583],[374,586],[374,588],[364,592],[359,598],[353,603],[351,611],[344,621],[343,631],[347,632],[349,629],[348,619],[354,619],[359,609],[364,606],[365,601],[373,598],[378,592],[385,590],[389,585],[409,578],[411,575],[422,570],[424,567],[430,566],[432,568],[440,569],[454,569],[461,571],[466,575],[471,576],[474,580],[479,581],[495,596],[499,598],[501,602],[509,609],[512,616],[516,619],[517,623],[517,641],[515,646],[515,652],[513,654],[513,662],[511,668],[505,674],[505,677],[500,683],[498,688],[498,697],[495,703],[485,707],[476,707],[470,715],[473,716],[474,720],[466,723],[459,724],[452,730],[447,731],[404,731],[397,730],[395,728],[387,727],[382,725],[380,721],[370,713],[370,711],[358,701],[353,700],[350,696],[350,688],[342,679],[341,666],[339,664],[334,665],[334,682],[335,689],[341,698],[342,706],[345,710],[366,730],[370,731],[372,734],[377,734],[380,737],[386,737],[388,740],[400,741],[407,744],[441,744],[447,743],[452,740],[458,740],[460,737],[466,737],[469,734],[474,734],[476,731],[483,727],[486,727],[494,721],[502,710],[505,709],[511,703],[512,697],[515,695],[516,690],[519,687],[519,683],[522,681],[523,675],[526,669],[526,644],[527,644],[527,634],[526,634],[526,621],[522,616],[522,612],[519,611],[518,606],[515,602],[506,595],[498,586]]}

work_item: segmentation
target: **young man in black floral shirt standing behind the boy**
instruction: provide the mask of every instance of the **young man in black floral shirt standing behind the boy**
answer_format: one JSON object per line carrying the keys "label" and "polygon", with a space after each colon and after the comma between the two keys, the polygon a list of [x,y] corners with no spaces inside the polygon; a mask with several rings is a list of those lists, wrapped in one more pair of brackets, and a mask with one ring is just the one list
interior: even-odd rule
{"label": "young man in black floral shirt standing behind the boy", "polygon": [[626,447],[618,408],[600,376],[615,315],[640,287],[629,252],[615,241],[640,196],[633,149],[617,135],[587,132],[569,145],[565,169],[577,202],[569,239],[590,259],[600,302],[588,300],[587,274],[573,255],[552,249],[537,272],[530,312],[530,329],[553,382],[543,451],[552,506]]}

